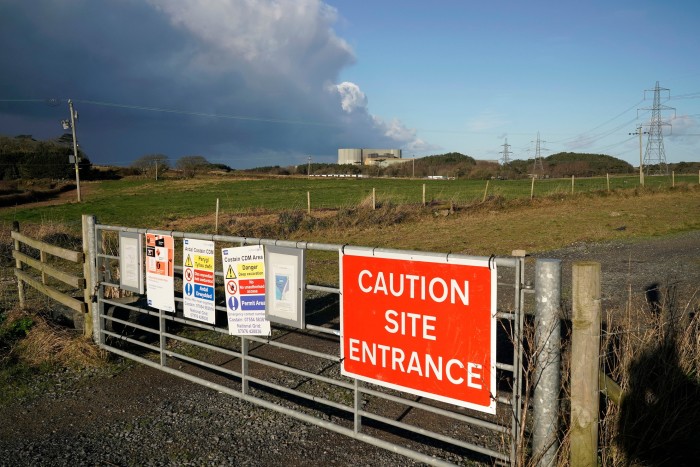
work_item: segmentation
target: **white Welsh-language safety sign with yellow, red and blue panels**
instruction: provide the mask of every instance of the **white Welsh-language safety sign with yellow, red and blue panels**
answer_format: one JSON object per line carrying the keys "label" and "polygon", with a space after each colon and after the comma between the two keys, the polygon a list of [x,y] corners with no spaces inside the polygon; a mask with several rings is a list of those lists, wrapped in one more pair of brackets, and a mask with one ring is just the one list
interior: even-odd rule
{"label": "white Welsh-language safety sign with yellow, red and blue panels", "polygon": [[214,242],[184,239],[182,262],[183,315],[185,318],[215,323]]}

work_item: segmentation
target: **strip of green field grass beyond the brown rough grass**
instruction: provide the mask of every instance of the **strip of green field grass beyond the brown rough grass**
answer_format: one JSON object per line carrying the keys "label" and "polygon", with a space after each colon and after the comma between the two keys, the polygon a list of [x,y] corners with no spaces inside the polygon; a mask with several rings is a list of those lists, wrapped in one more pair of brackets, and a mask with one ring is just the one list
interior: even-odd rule
{"label": "strip of green field grass beyond the brown rough grass", "polygon": [[[676,184],[695,184],[694,175],[676,176]],[[219,199],[221,213],[255,210],[305,210],[307,192],[312,209],[356,206],[376,190],[378,202],[420,204],[423,185],[426,201],[470,204],[483,199],[483,180],[409,179],[323,179],[291,178],[193,180],[144,180],[89,182],[83,184],[83,203],[36,207],[31,205],[0,209],[0,222],[79,222],[81,214],[94,214],[101,223],[158,228],[164,220],[198,217],[215,212]],[[490,180],[489,196],[529,199],[530,180]],[[611,177],[610,189],[636,188],[636,176]],[[671,177],[646,177],[646,188],[670,187]],[[579,178],[574,192],[606,191],[605,177]],[[552,193],[571,194],[571,179],[536,180],[535,197]]]}

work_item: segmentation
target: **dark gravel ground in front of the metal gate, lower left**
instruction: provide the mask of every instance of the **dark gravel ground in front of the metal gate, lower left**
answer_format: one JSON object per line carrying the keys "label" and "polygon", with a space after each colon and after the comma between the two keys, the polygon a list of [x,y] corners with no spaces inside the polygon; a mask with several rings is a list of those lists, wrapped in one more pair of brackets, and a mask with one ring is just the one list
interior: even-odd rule
{"label": "dark gravel ground in front of the metal gate, lower left", "polygon": [[0,408],[0,465],[415,465],[141,365],[53,379]]}

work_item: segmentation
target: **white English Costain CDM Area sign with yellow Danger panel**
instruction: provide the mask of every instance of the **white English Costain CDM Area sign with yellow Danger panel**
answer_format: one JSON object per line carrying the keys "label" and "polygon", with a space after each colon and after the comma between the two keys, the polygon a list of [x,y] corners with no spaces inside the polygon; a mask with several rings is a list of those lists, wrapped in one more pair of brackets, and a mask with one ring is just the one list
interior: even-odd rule
{"label": "white English Costain CDM Area sign with yellow Danger panel", "polygon": [[260,245],[222,248],[229,334],[269,335],[265,319],[265,256]]}

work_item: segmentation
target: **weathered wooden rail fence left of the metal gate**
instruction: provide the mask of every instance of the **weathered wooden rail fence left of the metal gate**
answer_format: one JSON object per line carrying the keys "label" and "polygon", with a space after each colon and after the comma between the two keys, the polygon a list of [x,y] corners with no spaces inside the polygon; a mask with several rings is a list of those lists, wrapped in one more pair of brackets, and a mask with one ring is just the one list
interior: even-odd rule
{"label": "weathered wooden rail fence left of the metal gate", "polygon": [[[83,264],[85,256],[82,252],[68,250],[66,248],[61,248],[55,245],[50,245],[48,243],[33,239],[19,232],[19,223],[15,222],[12,226],[11,232],[12,239],[14,240],[14,250],[12,251],[12,257],[15,259],[15,276],[17,277],[17,287],[19,289],[19,304],[20,307],[25,307],[25,296],[24,296],[24,284],[30,285],[34,289],[43,293],[44,295],[56,300],[57,302],[65,305],[71,310],[77,311],[79,313],[87,312],[87,305],[83,300],[78,300],[65,294],[58,289],[47,284],[47,276],[50,276],[58,281],[63,282],[66,285],[74,287],[76,289],[85,289],[85,279],[82,277],[74,276],[68,272],[62,271],[54,266],[47,264],[47,255],[62,258],[66,261],[73,263]],[[31,256],[22,253],[21,245],[24,244],[36,250],[39,250],[39,259],[32,258]],[[29,272],[24,270],[24,266],[29,266],[34,268],[39,273],[41,273],[41,278],[35,277]]]}

